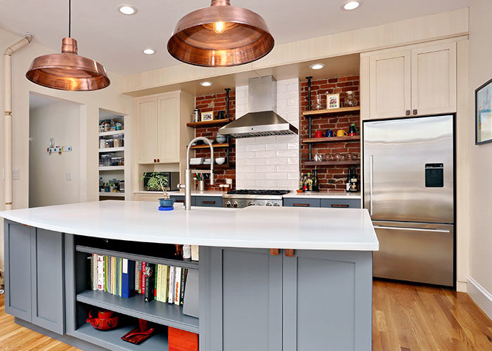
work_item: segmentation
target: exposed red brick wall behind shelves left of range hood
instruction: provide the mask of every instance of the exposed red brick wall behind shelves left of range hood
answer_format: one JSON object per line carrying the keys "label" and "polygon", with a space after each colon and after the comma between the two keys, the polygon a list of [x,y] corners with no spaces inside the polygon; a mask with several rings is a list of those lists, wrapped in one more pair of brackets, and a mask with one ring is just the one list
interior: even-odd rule
{"label": "exposed red brick wall behind shelves left of range hood", "polygon": [[[226,111],[226,93],[214,94],[214,95],[204,95],[197,96],[195,99],[195,106],[200,110],[200,112],[214,112],[214,118],[216,118],[217,112],[220,110]],[[235,92],[229,92],[229,117],[231,119],[235,118]],[[205,136],[214,141],[221,126],[211,126],[208,128],[196,128],[196,136]],[[229,163],[235,164],[235,140],[229,139]],[[195,157],[210,157],[209,149],[195,150]],[[216,157],[226,157],[226,149],[224,148],[214,148],[214,158]],[[205,182],[207,190],[221,190],[219,185],[226,184],[226,178],[231,178],[233,180],[232,189],[235,189],[235,167],[231,166],[228,168],[215,168],[214,167],[214,185],[209,185],[209,182]]]}

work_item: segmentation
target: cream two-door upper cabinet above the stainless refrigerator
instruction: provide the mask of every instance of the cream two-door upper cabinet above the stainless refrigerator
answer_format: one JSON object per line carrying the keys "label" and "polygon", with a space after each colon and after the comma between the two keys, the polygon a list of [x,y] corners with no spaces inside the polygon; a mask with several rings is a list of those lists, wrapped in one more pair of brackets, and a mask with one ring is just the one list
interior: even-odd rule
{"label": "cream two-door upper cabinet above the stainless refrigerator", "polygon": [[455,42],[364,53],[362,118],[456,112],[456,69]]}

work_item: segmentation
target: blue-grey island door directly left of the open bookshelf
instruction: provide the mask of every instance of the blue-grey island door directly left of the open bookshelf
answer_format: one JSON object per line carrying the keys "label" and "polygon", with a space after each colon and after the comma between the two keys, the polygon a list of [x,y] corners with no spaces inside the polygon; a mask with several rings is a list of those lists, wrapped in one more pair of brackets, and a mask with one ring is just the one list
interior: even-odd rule
{"label": "blue-grey island door directly left of the open bookshelf", "polygon": [[63,234],[37,228],[31,252],[32,323],[63,334]]}

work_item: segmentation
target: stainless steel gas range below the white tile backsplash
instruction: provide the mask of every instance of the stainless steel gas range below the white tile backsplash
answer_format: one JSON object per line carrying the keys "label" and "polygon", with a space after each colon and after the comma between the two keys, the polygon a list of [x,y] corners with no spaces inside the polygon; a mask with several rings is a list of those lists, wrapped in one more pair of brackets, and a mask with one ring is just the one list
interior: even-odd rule
{"label": "stainless steel gas range below the white tile backsplash", "polygon": [[231,190],[222,195],[224,207],[282,206],[282,196],[289,190]]}

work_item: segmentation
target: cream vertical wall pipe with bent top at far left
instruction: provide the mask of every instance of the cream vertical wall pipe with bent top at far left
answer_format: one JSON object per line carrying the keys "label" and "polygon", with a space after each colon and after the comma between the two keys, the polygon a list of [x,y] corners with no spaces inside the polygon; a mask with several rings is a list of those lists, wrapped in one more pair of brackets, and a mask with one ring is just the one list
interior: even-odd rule
{"label": "cream vertical wall pipe with bent top at far left", "polygon": [[5,209],[13,208],[12,192],[12,55],[32,41],[32,34],[25,34],[17,43],[6,48],[4,53],[4,129],[5,129]]}

